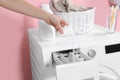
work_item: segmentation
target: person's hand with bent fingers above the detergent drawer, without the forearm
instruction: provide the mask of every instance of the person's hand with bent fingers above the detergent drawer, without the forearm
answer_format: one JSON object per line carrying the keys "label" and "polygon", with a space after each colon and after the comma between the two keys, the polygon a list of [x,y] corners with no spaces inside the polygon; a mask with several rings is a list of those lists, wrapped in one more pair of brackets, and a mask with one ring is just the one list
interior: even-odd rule
{"label": "person's hand with bent fingers above the detergent drawer, without the forearm", "polygon": [[55,29],[57,31],[59,31],[61,34],[63,34],[63,27],[65,27],[67,24],[66,21],[64,21],[62,18],[56,16],[56,15],[53,15],[53,14],[49,14],[48,15],[48,19],[45,20],[46,23],[52,25],[55,27]]}

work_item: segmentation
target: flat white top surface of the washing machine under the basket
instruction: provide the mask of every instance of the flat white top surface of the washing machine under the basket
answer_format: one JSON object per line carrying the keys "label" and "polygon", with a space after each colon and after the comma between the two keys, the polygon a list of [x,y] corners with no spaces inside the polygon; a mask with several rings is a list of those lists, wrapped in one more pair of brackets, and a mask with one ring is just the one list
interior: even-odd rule
{"label": "flat white top surface of the washing machine under the basket", "polygon": [[83,35],[56,37],[53,41],[42,41],[39,39],[38,29],[30,29],[29,34],[37,42],[44,51],[56,51],[61,49],[72,49],[80,46],[89,46],[93,44],[117,44],[120,41],[120,33],[108,34],[107,29],[102,26],[95,25],[94,29]]}

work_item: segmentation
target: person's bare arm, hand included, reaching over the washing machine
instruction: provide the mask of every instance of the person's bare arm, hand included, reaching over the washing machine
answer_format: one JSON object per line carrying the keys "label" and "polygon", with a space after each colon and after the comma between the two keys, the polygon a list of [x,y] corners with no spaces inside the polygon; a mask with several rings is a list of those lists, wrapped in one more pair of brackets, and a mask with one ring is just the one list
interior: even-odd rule
{"label": "person's bare arm, hand included, reaching over the washing machine", "polygon": [[60,33],[63,33],[62,27],[67,25],[63,19],[31,5],[25,0],[0,0],[0,6],[31,17],[42,19],[46,23],[54,26]]}

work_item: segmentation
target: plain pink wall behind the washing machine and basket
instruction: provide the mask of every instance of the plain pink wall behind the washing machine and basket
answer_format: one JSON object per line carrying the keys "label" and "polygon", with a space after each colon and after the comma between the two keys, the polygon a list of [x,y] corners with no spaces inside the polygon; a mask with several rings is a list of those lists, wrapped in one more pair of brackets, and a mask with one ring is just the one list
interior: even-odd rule
{"label": "plain pink wall behind the washing machine and basket", "polygon": [[[28,0],[33,4],[48,0]],[[108,1],[74,0],[75,3],[96,7],[95,23],[105,25]],[[120,25],[120,11],[117,28]],[[36,19],[0,7],[0,80],[31,80],[27,29],[38,26]],[[120,28],[118,28],[120,31]]]}

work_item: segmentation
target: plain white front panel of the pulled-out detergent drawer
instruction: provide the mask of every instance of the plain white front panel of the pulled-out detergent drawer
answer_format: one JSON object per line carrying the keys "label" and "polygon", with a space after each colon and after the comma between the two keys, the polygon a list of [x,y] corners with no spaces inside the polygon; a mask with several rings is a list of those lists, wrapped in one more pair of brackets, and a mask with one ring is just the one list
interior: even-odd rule
{"label": "plain white front panel of the pulled-out detergent drawer", "polygon": [[56,65],[56,80],[99,80],[95,60]]}

